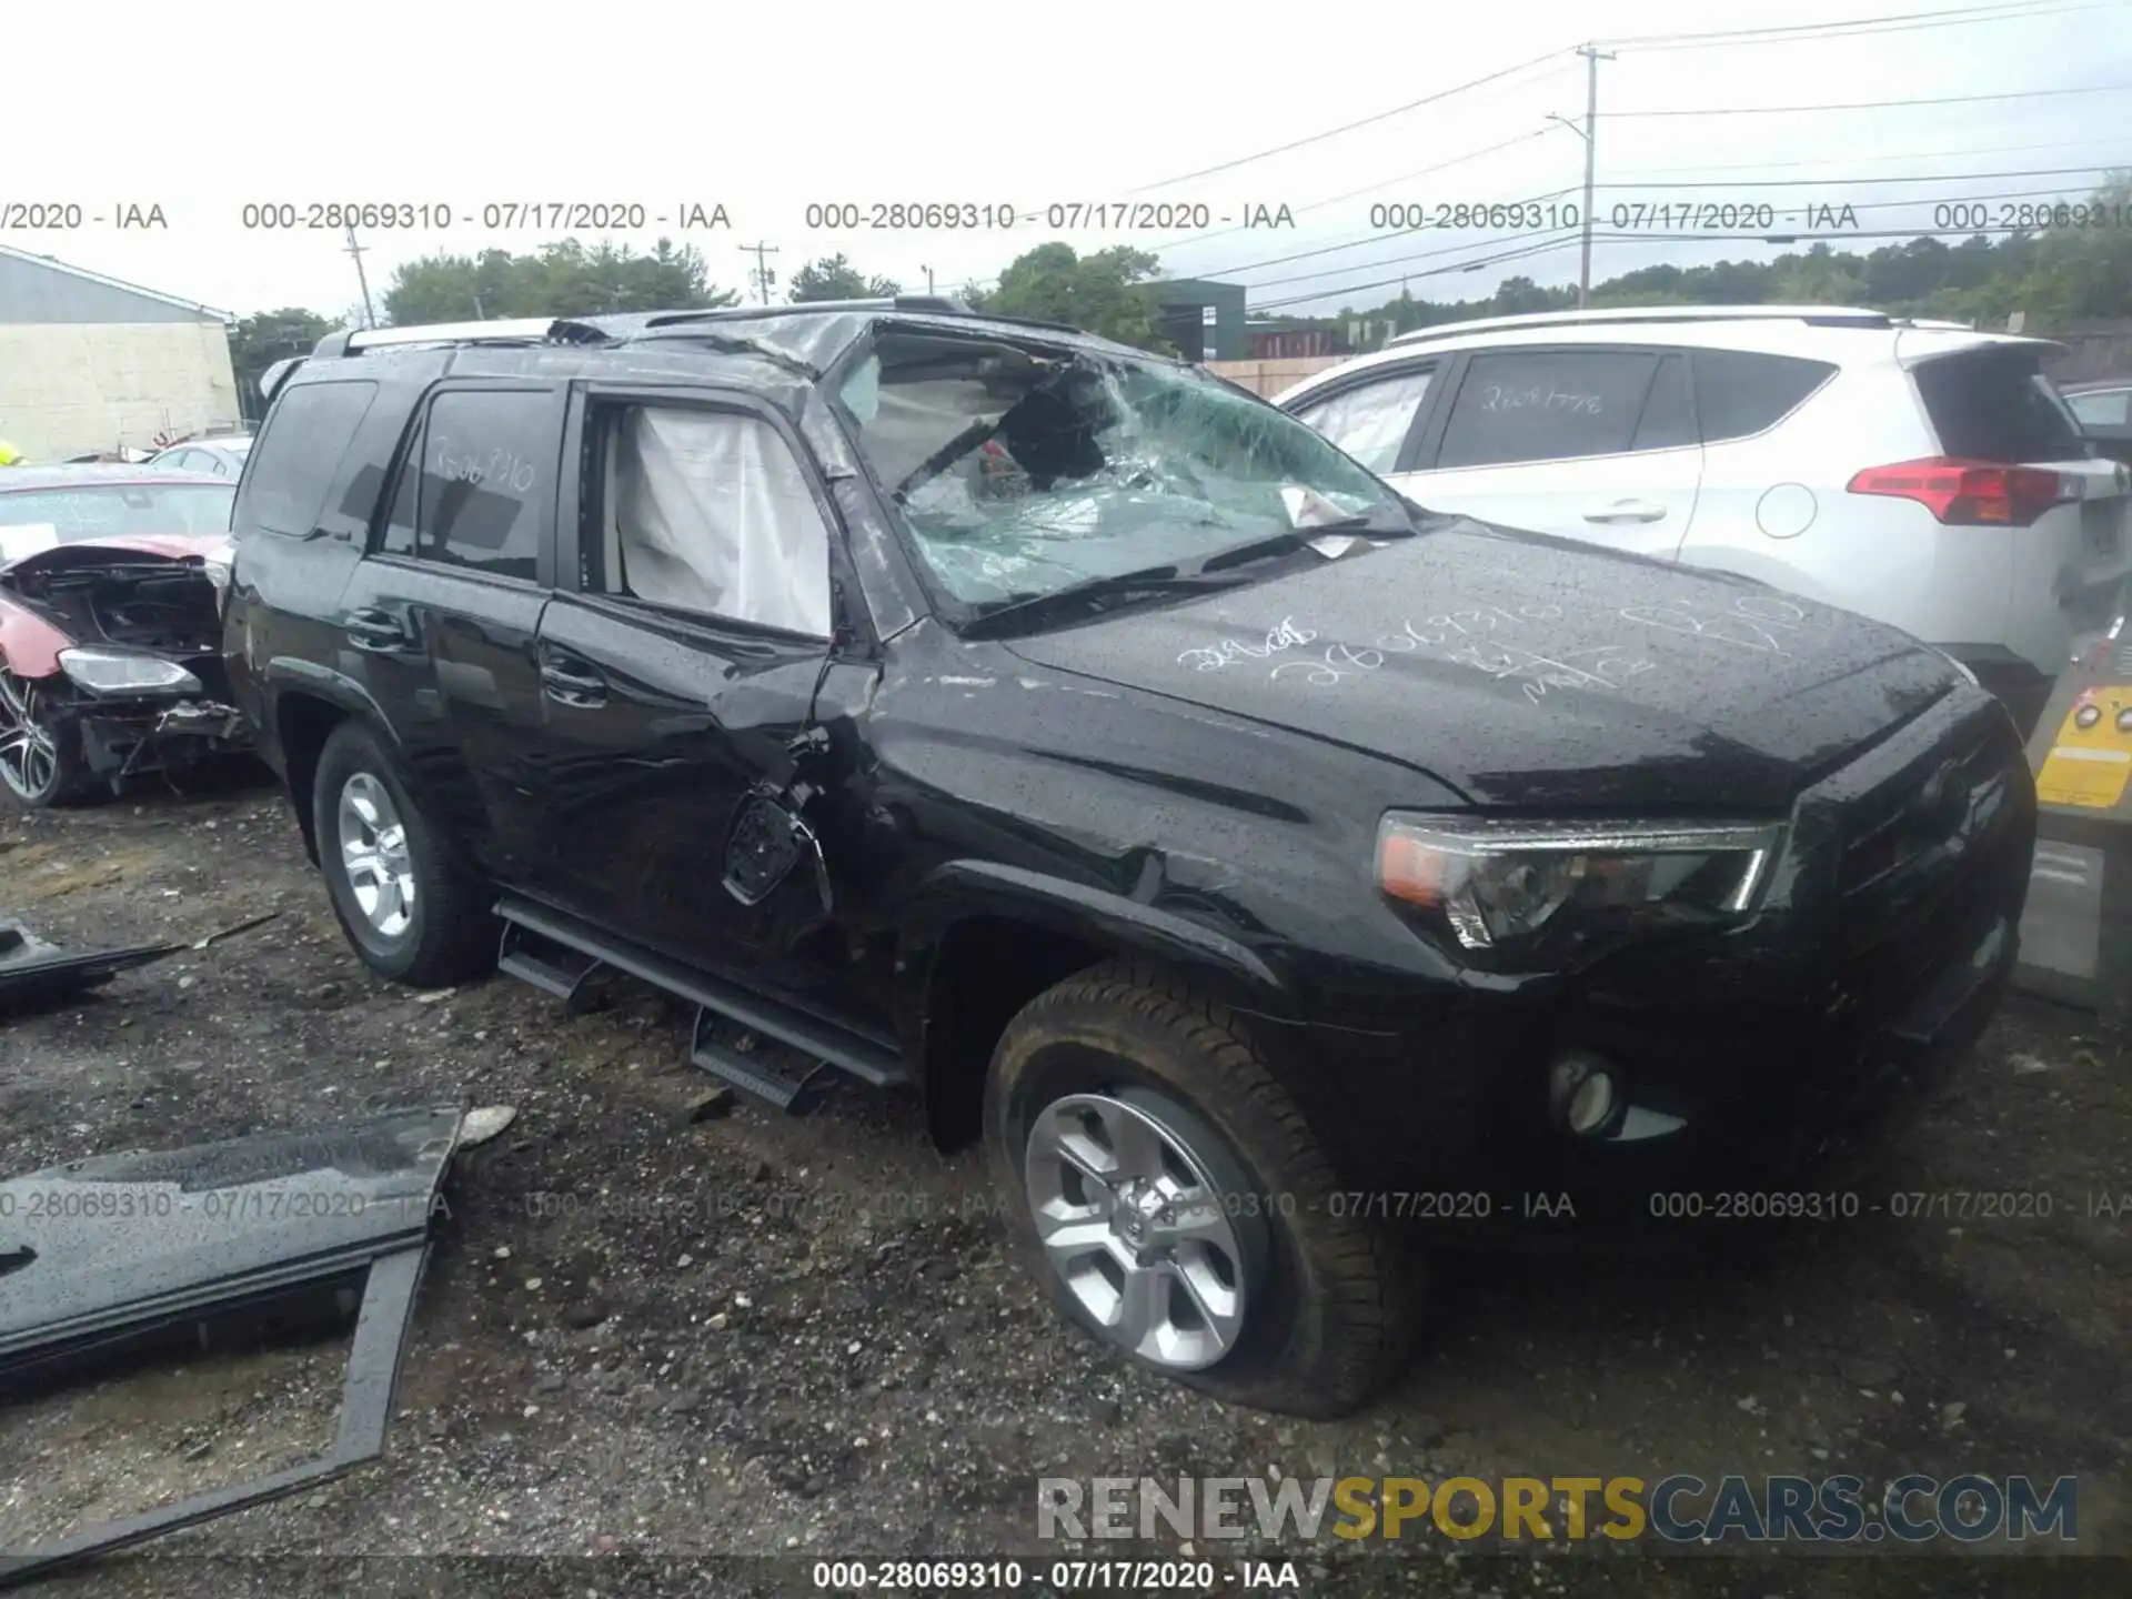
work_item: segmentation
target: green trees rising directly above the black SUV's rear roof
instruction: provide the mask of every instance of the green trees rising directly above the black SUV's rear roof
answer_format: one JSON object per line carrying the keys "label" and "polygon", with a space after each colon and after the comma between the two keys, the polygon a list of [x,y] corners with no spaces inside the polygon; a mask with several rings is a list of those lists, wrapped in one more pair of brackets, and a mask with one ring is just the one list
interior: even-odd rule
{"label": "green trees rising directly above the black SUV's rear roof", "polygon": [[478,322],[520,316],[603,316],[610,311],[704,311],[740,301],[712,288],[704,256],[661,239],[648,252],[578,239],[531,254],[484,249],[480,256],[424,256],[392,273],[384,296],[394,326]]}

